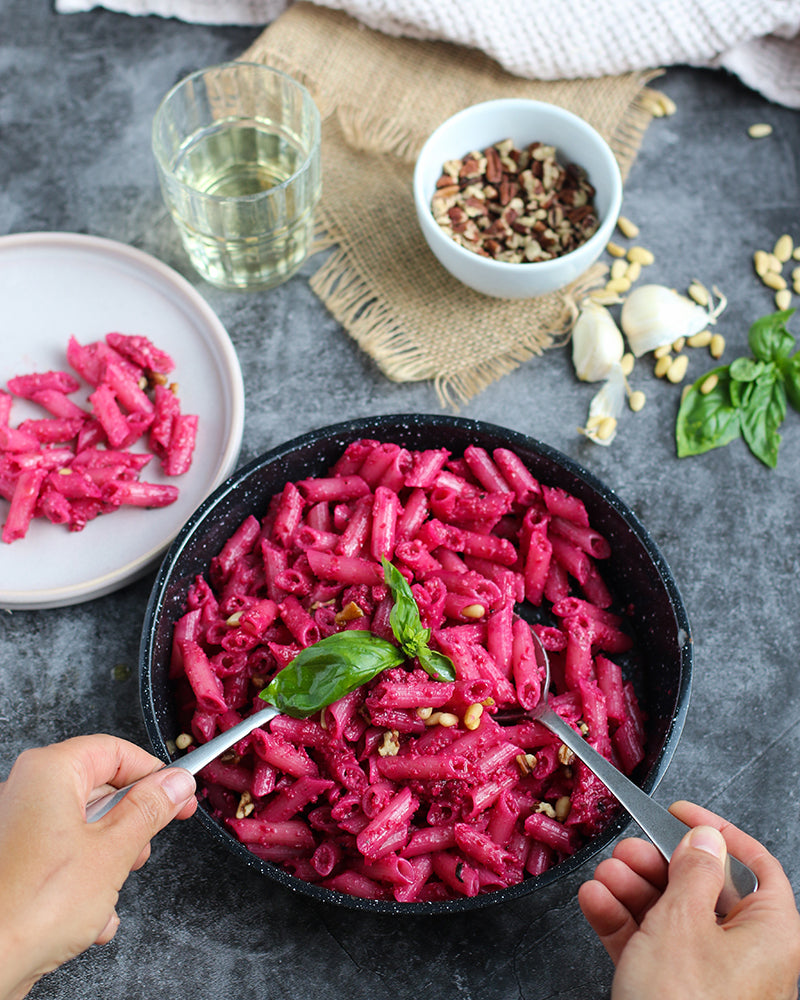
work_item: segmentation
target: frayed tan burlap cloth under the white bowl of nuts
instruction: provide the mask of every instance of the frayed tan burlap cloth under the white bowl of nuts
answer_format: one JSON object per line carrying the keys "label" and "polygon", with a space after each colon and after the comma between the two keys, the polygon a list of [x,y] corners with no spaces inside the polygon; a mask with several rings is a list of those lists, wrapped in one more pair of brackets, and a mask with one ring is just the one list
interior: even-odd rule
{"label": "frayed tan burlap cloth under the white bowl of nuts", "polygon": [[318,246],[332,252],[311,286],[388,378],[432,380],[442,404],[453,405],[568,332],[576,300],[605,269],[537,299],[472,292],[441,267],[419,230],[414,160],[430,132],[461,108],[529,97],[590,122],[625,177],[650,121],[638,99],[653,73],[523,80],[476,50],[389,37],[308,3],[282,14],[242,58],[301,80],[319,107]]}

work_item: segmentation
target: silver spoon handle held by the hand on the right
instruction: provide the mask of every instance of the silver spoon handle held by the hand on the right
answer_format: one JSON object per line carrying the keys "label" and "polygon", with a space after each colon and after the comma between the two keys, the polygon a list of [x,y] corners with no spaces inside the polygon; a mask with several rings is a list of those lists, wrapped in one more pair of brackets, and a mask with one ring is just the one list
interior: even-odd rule
{"label": "silver spoon handle held by the hand on the right", "polygon": [[[552,708],[542,706],[536,718],[597,775],[669,861],[689,827],[618,771]],[[755,874],[741,861],[728,855],[725,885],[717,900],[717,913],[725,916],[740,899],[755,892],[757,887]]]}

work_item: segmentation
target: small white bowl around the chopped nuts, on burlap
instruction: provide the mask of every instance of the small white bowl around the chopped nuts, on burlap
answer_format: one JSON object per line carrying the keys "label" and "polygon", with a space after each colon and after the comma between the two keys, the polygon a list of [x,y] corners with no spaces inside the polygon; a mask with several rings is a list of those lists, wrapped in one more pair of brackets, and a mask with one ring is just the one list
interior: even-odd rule
{"label": "small white bowl around the chopped nuts, on burlap", "polygon": [[[553,145],[560,162],[583,167],[596,190],[600,219],[599,228],[585,243],[553,260],[513,264],[459,246],[439,226],[431,199],[442,164],[503,139],[512,139],[517,147],[537,141]],[[622,177],[608,143],[582,118],[554,104],[507,98],[465,108],[432,133],[414,168],[414,203],[428,246],[450,274],[485,295],[531,298],[571,284],[598,259],[619,215]]]}

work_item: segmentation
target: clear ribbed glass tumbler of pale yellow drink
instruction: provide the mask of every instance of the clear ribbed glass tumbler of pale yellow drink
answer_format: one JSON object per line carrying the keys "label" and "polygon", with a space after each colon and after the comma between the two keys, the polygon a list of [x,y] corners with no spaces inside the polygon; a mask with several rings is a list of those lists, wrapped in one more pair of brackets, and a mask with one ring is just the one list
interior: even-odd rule
{"label": "clear ribbed glass tumbler of pale yellow drink", "polygon": [[321,192],[320,118],[296,80],[212,66],[170,90],[153,121],[164,201],[193,266],[219,288],[272,288],[305,260]]}

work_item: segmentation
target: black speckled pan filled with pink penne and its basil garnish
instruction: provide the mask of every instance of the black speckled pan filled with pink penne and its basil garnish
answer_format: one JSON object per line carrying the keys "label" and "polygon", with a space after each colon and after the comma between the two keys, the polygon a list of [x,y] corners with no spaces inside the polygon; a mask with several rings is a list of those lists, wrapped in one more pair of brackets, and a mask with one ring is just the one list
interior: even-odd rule
{"label": "black speckled pan filled with pink penne and its basil garnish", "polygon": [[[339,673],[351,658],[349,687],[306,711],[290,699],[200,773],[200,822],[315,899],[409,914],[499,903],[629,822],[525,717],[531,630],[551,706],[651,792],[683,727],[692,644],[636,515],[516,432],[355,420],[256,459],[184,526],[146,613],[145,722],[164,759],[191,753],[276,685],[311,691],[330,657]],[[367,670],[373,656],[385,662]]]}

